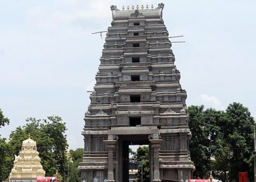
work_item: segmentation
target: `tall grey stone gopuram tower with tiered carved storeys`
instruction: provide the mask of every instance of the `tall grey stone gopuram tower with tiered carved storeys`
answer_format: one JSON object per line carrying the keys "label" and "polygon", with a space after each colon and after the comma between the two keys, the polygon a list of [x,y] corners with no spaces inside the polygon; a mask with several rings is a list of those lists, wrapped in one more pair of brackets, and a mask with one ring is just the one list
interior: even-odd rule
{"label": "tall grey stone gopuram tower with tiered carved storeys", "polygon": [[85,114],[81,180],[129,181],[129,145],[149,145],[150,181],[186,180],[190,160],[187,94],[168,31],[163,4],[111,6],[111,27]]}

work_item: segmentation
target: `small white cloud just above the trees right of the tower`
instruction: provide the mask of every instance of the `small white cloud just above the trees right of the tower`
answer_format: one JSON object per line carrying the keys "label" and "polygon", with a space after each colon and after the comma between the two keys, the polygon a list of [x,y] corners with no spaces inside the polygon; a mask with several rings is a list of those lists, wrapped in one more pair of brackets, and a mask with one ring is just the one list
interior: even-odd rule
{"label": "small white cloud just above the trees right of the tower", "polygon": [[215,96],[209,96],[207,94],[202,94],[201,95],[201,100],[202,100],[202,103],[207,108],[214,108],[214,109],[219,109],[219,110],[225,110],[221,100],[219,100],[219,98],[217,98]]}

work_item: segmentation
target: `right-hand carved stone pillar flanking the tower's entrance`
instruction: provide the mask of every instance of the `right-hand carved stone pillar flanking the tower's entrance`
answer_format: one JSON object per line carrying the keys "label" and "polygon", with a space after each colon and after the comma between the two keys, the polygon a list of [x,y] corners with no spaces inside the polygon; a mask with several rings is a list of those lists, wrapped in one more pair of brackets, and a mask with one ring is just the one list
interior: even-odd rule
{"label": "right-hand carved stone pillar flanking the tower's entrance", "polygon": [[160,149],[160,144],[162,142],[162,140],[160,139],[152,139],[150,140],[151,142],[151,151],[153,153],[153,173],[154,173],[154,178],[153,181],[154,182],[160,182],[160,172],[159,172],[159,149]]}

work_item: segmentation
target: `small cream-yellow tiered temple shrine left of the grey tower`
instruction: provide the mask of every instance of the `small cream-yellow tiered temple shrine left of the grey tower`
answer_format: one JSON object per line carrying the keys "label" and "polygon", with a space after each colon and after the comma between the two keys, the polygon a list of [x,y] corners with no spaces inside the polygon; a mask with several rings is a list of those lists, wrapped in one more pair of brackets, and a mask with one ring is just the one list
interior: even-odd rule
{"label": "small cream-yellow tiered temple shrine left of the grey tower", "polygon": [[15,155],[15,161],[10,173],[10,181],[22,179],[22,181],[31,181],[37,177],[44,177],[45,171],[40,163],[38,156],[37,143],[30,137],[22,142],[22,150],[19,155]]}

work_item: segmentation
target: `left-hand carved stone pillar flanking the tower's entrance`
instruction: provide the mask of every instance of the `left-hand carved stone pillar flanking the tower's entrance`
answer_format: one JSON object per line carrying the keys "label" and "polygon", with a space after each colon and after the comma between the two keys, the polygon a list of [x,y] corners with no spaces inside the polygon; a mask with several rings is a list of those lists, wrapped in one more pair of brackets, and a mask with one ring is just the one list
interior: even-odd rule
{"label": "left-hand carved stone pillar flanking the tower's entrance", "polygon": [[113,140],[109,136],[109,140],[104,140],[106,149],[108,150],[108,182],[115,182],[113,170],[113,152],[116,148],[117,140]]}

